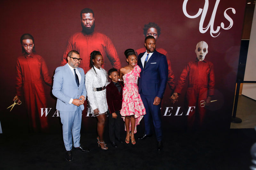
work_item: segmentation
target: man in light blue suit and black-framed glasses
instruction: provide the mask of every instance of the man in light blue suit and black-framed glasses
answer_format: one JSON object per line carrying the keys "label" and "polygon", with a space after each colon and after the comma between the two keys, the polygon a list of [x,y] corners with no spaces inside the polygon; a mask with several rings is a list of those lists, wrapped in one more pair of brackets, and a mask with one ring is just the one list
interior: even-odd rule
{"label": "man in light blue suit and black-framed glasses", "polygon": [[80,129],[82,111],[86,90],[84,84],[84,70],[78,68],[81,62],[77,51],[68,53],[68,63],[55,70],[52,94],[57,97],[56,109],[59,110],[62,123],[63,140],[66,148],[66,160],[72,161],[72,136],[73,150],[89,152],[80,145]]}

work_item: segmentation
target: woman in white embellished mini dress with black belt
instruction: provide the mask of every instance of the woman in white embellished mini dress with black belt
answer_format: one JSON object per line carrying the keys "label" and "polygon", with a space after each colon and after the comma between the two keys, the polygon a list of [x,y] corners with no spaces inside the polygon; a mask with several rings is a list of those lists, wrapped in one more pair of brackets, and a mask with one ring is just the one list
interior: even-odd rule
{"label": "woman in white embellished mini dress with black belt", "polygon": [[88,113],[97,117],[98,145],[106,150],[108,147],[103,140],[103,132],[108,110],[106,86],[108,85],[107,71],[102,69],[103,57],[100,51],[90,54],[90,70],[85,74],[85,88],[88,97]]}

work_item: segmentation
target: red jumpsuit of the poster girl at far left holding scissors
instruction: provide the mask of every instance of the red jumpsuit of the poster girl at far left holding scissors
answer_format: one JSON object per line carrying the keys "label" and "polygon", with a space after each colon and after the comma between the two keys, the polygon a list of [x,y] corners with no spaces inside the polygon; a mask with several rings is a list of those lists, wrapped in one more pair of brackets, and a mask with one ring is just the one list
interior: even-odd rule
{"label": "red jumpsuit of the poster girl at far left holding scissors", "polygon": [[41,108],[46,108],[43,82],[52,85],[46,63],[33,52],[19,56],[16,60],[16,95],[24,96],[31,130],[40,131],[48,127],[47,118],[41,117]]}

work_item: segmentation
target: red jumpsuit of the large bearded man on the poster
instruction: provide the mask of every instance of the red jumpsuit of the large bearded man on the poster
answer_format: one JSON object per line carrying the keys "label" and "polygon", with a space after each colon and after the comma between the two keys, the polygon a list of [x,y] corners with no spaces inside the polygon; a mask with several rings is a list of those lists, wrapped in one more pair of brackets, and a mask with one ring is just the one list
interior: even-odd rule
{"label": "red jumpsuit of the large bearded man on the poster", "polygon": [[61,66],[67,63],[68,52],[71,50],[76,50],[79,52],[80,57],[83,59],[79,67],[83,68],[85,73],[90,70],[90,54],[94,50],[100,51],[104,60],[106,60],[106,57],[108,57],[114,68],[121,68],[121,62],[116,53],[115,46],[113,45],[112,41],[102,33],[93,32],[92,34],[86,35],[82,32],[78,32],[69,37],[67,47],[60,63]]}

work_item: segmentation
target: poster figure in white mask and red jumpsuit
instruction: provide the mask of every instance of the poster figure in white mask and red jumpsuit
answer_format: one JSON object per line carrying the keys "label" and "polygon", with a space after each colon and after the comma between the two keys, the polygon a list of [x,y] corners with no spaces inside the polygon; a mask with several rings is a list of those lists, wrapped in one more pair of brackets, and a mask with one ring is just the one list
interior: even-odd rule
{"label": "poster figure in white mask and red jumpsuit", "polygon": [[[188,107],[196,107],[188,115],[188,130],[202,127],[207,107],[202,107],[201,103],[202,100],[206,102],[206,106],[211,103],[215,84],[213,64],[205,60],[205,55],[208,53],[208,44],[204,41],[198,42],[195,52],[197,58],[188,62],[188,65],[183,69],[171,97],[172,103],[177,101],[178,95],[187,82],[186,101]],[[199,120],[197,117],[199,117]]]}

